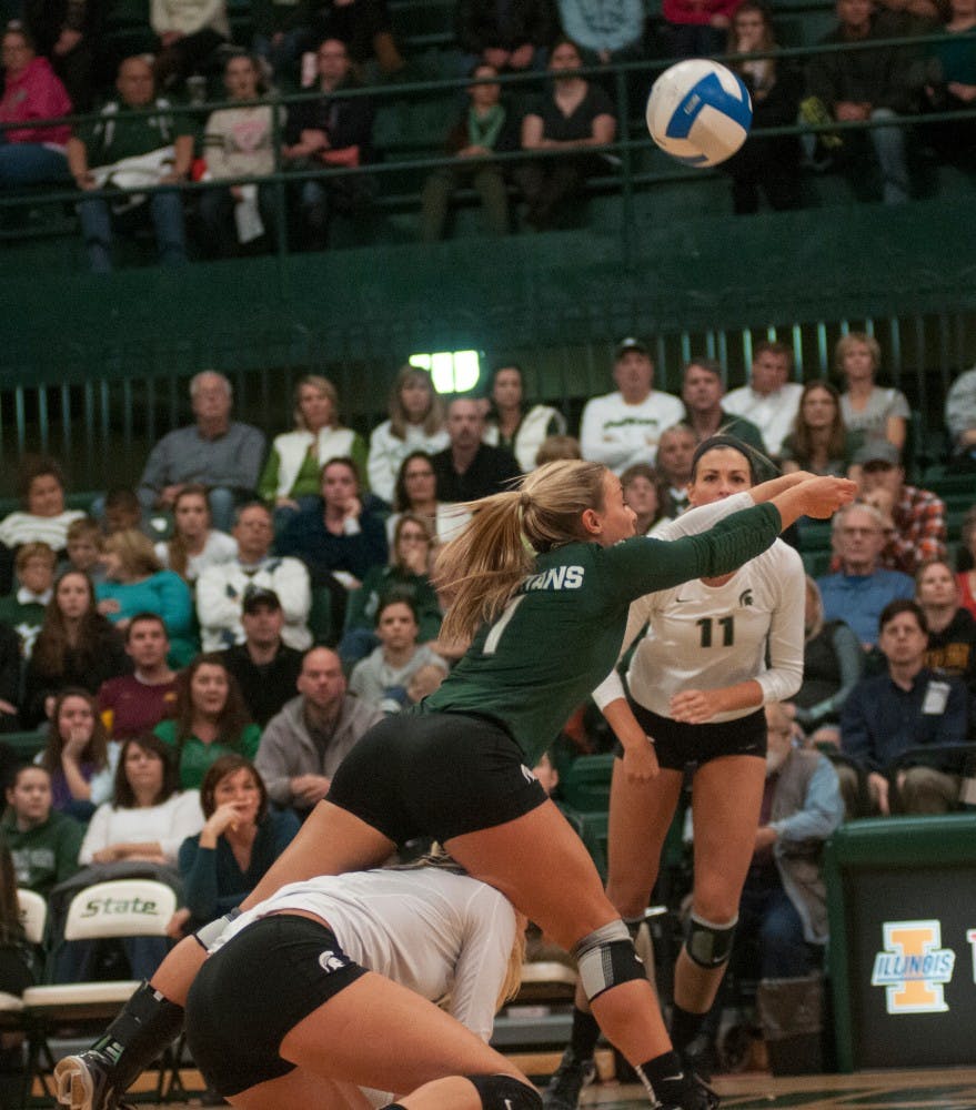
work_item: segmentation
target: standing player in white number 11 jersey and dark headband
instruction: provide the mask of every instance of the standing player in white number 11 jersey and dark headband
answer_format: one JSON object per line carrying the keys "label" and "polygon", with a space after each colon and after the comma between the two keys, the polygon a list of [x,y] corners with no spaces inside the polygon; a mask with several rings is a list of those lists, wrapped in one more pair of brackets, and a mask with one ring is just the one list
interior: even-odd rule
{"label": "standing player in white number 11 jersey and dark headband", "polygon": [[[706,440],[694,455],[690,504],[722,515],[747,504],[736,495],[755,484],[752,460],[731,436]],[[677,538],[714,519],[693,513],[657,534]],[[777,539],[732,574],[638,598],[623,650],[645,625],[647,633],[627,672],[630,702],[616,670],[594,693],[621,741],[606,889],[632,931],[657,878],[685,767],[694,768],[694,895],[671,1028],[680,1056],[712,1007],[732,947],[765,781],[763,706],[788,699],[803,680],[804,582],[799,555]],[[546,1110],[574,1107],[588,1078],[598,1028],[587,1010],[577,992],[573,1038],[543,1097]]]}

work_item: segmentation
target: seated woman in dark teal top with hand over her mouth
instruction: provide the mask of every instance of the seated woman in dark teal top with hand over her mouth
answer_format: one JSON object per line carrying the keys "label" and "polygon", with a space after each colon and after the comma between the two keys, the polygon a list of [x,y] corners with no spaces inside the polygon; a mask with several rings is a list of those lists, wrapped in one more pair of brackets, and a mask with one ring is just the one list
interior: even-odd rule
{"label": "seated woman in dark teal top with hand over her mouth", "polygon": [[209,768],[200,803],[203,829],[180,848],[187,906],[177,911],[172,935],[235,909],[299,830],[294,814],[269,808],[261,776],[241,755],[223,755]]}

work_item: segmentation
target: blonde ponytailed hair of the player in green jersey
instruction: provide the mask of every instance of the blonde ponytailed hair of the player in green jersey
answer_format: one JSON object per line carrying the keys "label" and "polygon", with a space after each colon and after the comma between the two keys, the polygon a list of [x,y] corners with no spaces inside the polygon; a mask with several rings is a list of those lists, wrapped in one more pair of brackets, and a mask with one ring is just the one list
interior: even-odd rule
{"label": "blonde ponytailed hair of the player in green jersey", "polygon": [[582,516],[603,508],[606,473],[600,463],[557,460],[526,474],[520,488],[464,506],[471,522],[434,565],[434,584],[450,603],[443,639],[470,639],[502,612],[535,555],[585,538]]}

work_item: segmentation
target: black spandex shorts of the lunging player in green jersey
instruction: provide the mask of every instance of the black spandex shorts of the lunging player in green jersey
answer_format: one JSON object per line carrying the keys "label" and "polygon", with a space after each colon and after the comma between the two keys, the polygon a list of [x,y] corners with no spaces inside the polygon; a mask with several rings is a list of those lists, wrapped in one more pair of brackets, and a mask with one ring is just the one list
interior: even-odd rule
{"label": "black spandex shorts of the lunging player in green jersey", "polygon": [[522,749],[493,720],[401,714],[374,725],[339,765],[328,800],[396,844],[442,844],[503,825],[546,800]]}

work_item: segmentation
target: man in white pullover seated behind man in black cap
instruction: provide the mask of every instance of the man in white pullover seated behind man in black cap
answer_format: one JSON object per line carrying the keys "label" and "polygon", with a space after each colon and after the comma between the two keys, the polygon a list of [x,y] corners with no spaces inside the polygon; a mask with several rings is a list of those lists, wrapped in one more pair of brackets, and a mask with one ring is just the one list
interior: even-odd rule
{"label": "man in white pullover seated behind man in black cap", "polygon": [[271,554],[274,527],[271,509],[260,501],[238,509],[233,529],[238,557],[232,563],[210,566],[197,583],[197,613],[204,652],[220,652],[243,644],[241,623],[244,594],[249,586],[271,589],[281,602],[284,627],[281,638],[299,652],[312,644],[309,612],[312,592],[309,572],[296,558]]}

